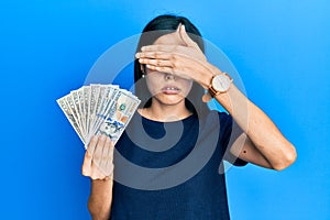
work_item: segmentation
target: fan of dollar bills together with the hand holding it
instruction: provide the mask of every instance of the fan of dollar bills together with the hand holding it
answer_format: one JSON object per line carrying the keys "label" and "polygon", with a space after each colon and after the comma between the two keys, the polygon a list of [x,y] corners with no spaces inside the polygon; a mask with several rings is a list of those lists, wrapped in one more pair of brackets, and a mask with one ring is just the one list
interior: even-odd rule
{"label": "fan of dollar bills together with the hand holding it", "polygon": [[113,145],[136,111],[140,99],[114,85],[91,84],[56,100],[86,151],[82,174],[112,175]]}

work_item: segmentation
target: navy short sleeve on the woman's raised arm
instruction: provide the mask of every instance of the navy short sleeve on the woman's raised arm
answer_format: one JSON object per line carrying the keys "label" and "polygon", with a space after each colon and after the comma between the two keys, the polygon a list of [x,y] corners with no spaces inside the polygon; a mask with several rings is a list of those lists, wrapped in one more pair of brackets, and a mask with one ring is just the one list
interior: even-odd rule
{"label": "navy short sleeve on the woman's raised arm", "polygon": [[245,166],[248,162],[234,156],[230,146],[243,133],[242,129],[226,112],[219,112],[220,119],[220,143],[222,144],[223,160],[234,166]]}

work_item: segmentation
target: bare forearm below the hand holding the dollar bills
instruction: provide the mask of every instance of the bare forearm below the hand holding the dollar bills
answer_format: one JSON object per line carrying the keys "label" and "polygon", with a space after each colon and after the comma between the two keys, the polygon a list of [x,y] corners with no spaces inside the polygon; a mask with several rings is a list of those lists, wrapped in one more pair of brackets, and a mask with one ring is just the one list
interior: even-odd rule
{"label": "bare forearm below the hand holding the dollar bills", "polygon": [[88,210],[94,220],[109,219],[112,202],[112,179],[91,180]]}

